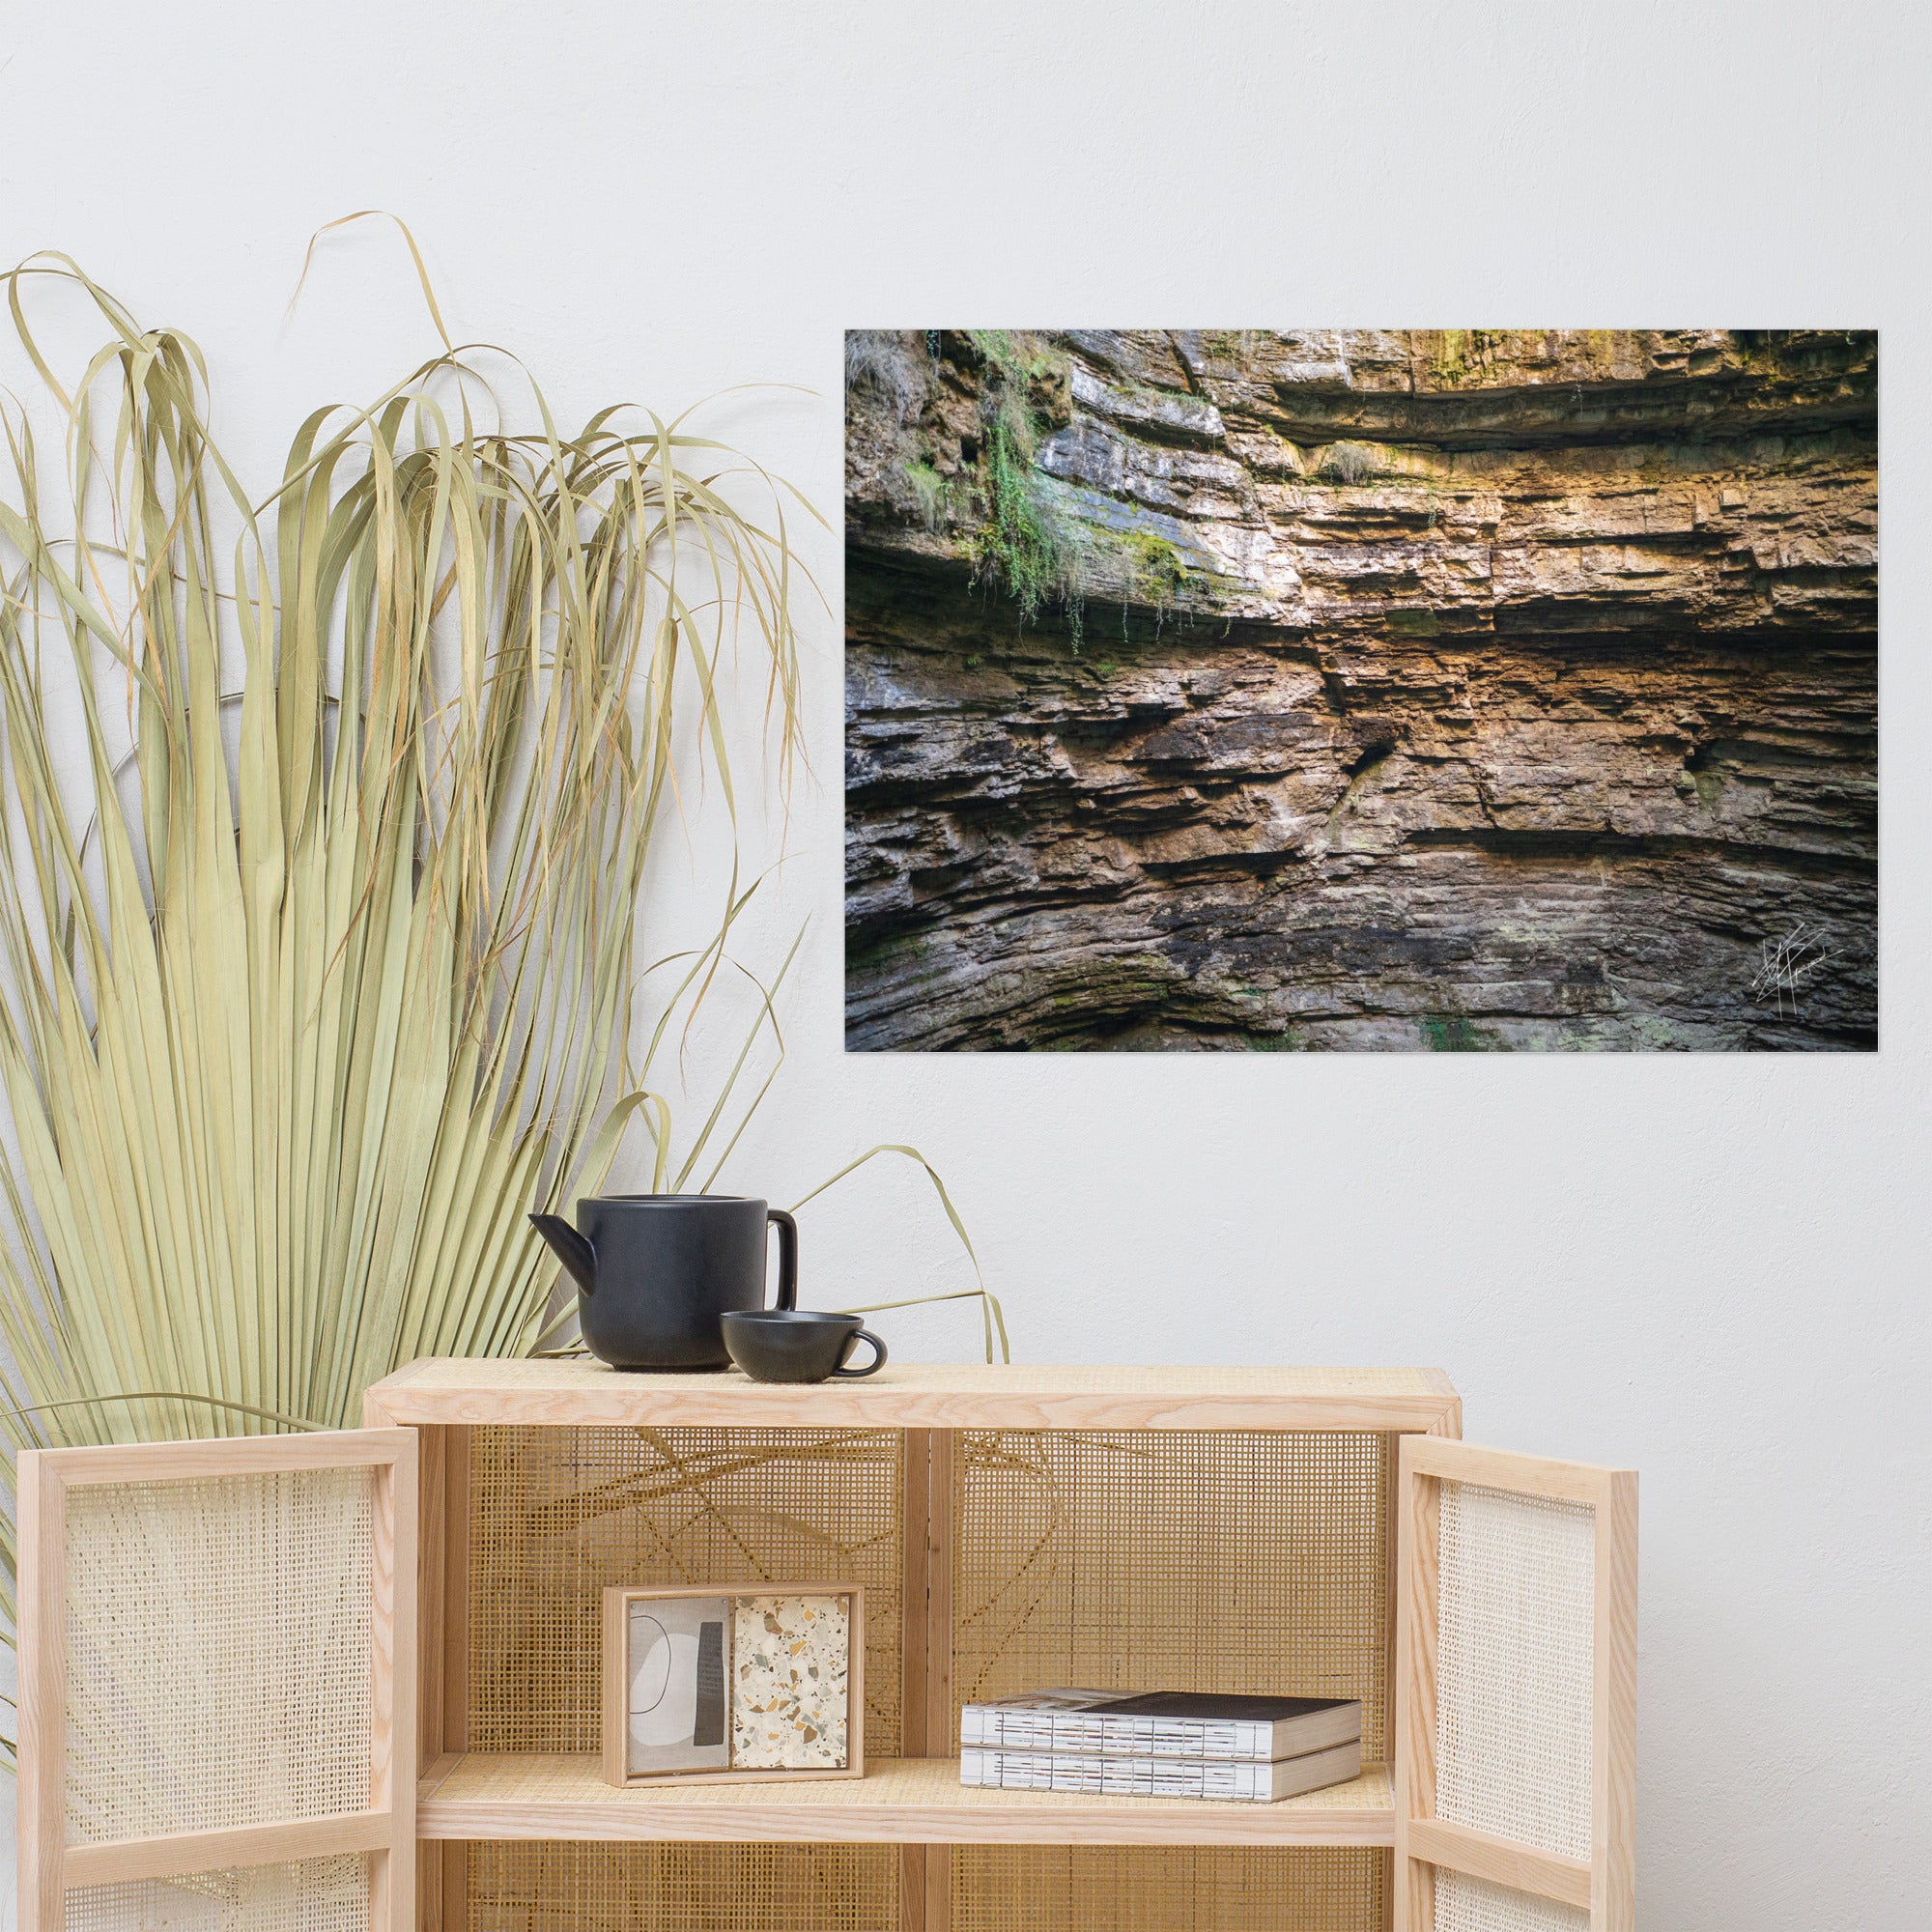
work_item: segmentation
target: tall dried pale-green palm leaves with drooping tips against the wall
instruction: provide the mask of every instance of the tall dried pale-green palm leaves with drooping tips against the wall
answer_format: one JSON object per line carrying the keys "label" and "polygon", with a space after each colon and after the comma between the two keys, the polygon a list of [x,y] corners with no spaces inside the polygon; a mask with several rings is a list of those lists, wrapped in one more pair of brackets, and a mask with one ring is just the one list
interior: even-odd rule
{"label": "tall dried pale-green palm leaves with drooping tips against the wall", "polygon": [[[71,388],[46,278],[106,323]],[[4,410],[8,1441],[344,1426],[413,1356],[554,1343],[526,1211],[593,1192],[632,1115],[655,1186],[709,1186],[782,1051],[753,981],[674,1151],[651,1061],[734,972],[736,866],[711,941],[659,962],[641,1065],[630,1032],[680,753],[736,823],[740,651],[781,788],[800,753],[784,487],[686,419],[564,433],[533,383],[508,433],[504,359],[425,276],[442,352],[317,410],[257,502],[187,336],[66,257],[6,292],[64,423],[43,450]],[[0,1534],[12,1625],[12,1509]]]}

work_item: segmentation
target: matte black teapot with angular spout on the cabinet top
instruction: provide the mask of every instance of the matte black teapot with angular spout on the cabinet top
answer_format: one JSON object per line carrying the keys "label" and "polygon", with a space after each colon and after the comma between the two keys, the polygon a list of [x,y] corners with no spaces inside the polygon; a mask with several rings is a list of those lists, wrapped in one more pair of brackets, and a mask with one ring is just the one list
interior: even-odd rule
{"label": "matte black teapot with angular spout on the cabinet top", "polygon": [[728,1368],[721,1318],[765,1306],[765,1229],[779,1231],[779,1308],[798,1306],[798,1223],[736,1194],[599,1194],[578,1225],[533,1213],[578,1285],[583,1347],[612,1368]]}

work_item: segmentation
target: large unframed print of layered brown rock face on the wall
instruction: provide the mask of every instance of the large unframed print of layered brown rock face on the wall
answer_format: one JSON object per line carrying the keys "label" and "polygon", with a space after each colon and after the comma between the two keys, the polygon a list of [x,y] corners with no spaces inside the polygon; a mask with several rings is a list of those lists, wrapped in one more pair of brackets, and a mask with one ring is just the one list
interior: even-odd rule
{"label": "large unframed print of layered brown rock face on the wall", "polygon": [[1868,1049],[1878,344],[848,344],[860,1049]]}

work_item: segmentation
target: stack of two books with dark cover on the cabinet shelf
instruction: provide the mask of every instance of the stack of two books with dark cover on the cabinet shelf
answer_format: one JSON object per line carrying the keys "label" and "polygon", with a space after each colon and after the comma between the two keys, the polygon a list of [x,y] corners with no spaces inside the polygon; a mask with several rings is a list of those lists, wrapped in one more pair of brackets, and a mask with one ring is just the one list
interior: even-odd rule
{"label": "stack of two books with dark cover on the cabinet shelf", "polygon": [[1352,1698],[1034,1690],[960,1712],[962,1785],[1269,1804],[1360,1772]]}

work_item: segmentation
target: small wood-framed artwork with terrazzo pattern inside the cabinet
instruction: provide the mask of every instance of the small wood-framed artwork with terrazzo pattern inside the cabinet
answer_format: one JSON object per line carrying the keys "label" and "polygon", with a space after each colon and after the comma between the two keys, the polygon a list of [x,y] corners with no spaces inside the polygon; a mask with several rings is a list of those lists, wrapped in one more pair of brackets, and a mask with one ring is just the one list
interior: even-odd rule
{"label": "small wood-framed artwork with terrazzo pattern inside the cabinet", "polygon": [[864,1621],[850,1582],[605,1590],[605,1777],[864,1777]]}

